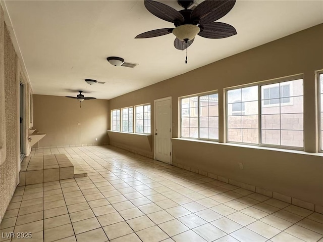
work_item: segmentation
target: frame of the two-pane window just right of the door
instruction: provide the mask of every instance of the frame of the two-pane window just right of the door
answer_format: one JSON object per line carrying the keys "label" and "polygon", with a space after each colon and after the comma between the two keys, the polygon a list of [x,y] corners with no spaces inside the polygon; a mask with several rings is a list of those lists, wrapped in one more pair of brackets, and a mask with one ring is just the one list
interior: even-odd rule
{"label": "frame of the two-pane window just right of the door", "polygon": [[[181,96],[179,98],[179,123],[180,123],[180,137],[181,138],[187,138],[187,139],[197,139],[197,140],[206,140],[206,141],[216,141],[219,142],[219,136],[218,139],[210,139],[210,138],[199,138],[200,136],[200,100],[199,100],[199,96],[206,96],[206,95],[212,95],[212,94],[218,94],[218,112],[219,112],[219,92],[218,90],[213,90],[213,91],[208,91],[208,92],[202,92],[202,93],[198,93],[198,94],[192,94],[192,95],[187,95],[187,96]],[[197,136],[198,138],[193,138],[193,137],[183,137],[182,136],[182,99],[187,99],[187,98],[197,98]],[[188,116],[184,116],[184,118],[188,118]],[[218,130],[219,130],[219,116],[218,116]]]}

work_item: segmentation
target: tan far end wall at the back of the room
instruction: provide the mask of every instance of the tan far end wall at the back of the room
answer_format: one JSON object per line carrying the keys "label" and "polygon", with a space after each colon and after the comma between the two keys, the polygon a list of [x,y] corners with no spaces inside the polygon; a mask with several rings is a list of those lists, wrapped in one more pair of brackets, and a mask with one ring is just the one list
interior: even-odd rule
{"label": "tan far end wall at the back of the room", "polygon": [[108,100],[84,101],[80,108],[77,100],[34,94],[33,113],[34,128],[46,133],[39,141],[39,147],[109,142],[106,133],[110,125]]}

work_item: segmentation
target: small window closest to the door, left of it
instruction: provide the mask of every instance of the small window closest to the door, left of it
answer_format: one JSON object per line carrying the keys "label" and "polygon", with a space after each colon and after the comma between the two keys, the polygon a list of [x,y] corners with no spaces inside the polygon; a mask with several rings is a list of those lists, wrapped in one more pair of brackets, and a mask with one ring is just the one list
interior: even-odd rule
{"label": "small window closest to the door, left of it", "polygon": [[150,105],[136,107],[136,133],[150,133]]}

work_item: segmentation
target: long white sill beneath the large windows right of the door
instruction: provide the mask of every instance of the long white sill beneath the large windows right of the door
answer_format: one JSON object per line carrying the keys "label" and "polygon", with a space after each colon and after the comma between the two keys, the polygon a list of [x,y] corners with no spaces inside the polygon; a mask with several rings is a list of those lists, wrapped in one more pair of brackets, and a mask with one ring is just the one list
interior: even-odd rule
{"label": "long white sill beneath the large windows right of the door", "polygon": [[234,147],[243,147],[243,148],[257,149],[257,150],[280,151],[280,152],[287,152],[287,153],[296,153],[296,154],[323,157],[323,153],[309,153],[309,152],[304,152],[304,151],[287,150],[287,149],[280,149],[280,148],[270,148],[270,147],[263,147],[263,146],[252,146],[252,145],[249,146],[248,144],[240,144],[240,143],[239,144],[237,144],[237,143],[220,143],[220,142],[217,142],[217,141],[208,141],[208,140],[201,140],[201,139],[189,139],[189,138],[172,138],[172,139],[191,141],[191,142],[200,142],[200,143],[218,144],[220,146],[234,146]]}

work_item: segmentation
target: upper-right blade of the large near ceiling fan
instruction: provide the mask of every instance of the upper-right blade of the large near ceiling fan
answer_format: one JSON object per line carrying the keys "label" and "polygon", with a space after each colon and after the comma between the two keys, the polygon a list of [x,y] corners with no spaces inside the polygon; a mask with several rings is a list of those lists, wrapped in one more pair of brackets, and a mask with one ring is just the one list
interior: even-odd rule
{"label": "upper-right blade of the large near ceiling fan", "polygon": [[205,0],[193,10],[191,19],[199,19],[201,25],[217,21],[229,13],[235,3],[236,0]]}

